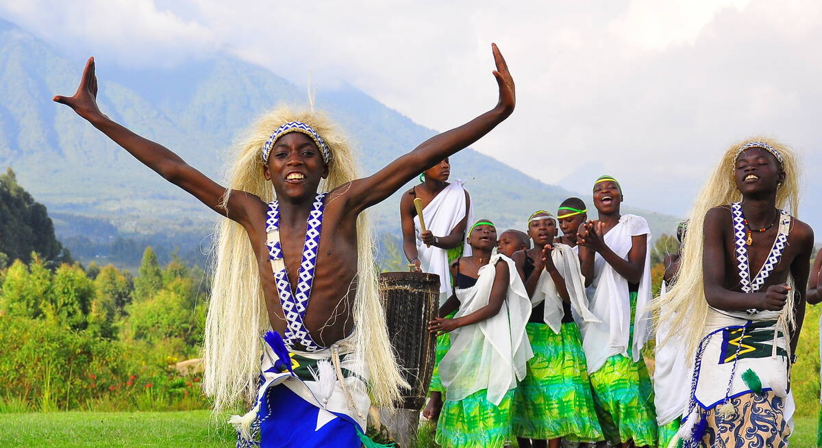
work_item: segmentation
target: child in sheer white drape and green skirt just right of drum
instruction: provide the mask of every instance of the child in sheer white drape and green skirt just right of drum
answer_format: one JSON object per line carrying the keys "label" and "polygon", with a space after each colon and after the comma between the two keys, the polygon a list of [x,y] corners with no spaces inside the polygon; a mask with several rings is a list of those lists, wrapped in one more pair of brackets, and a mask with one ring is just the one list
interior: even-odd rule
{"label": "child in sheer white drape and green skirt just right of drum", "polygon": [[474,223],[468,242],[473,255],[452,265],[456,288],[440,308],[440,316],[455,316],[429,326],[451,339],[440,363],[446,400],[436,442],[442,448],[501,448],[510,440],[514,389],[533,356],[525,336],[530,303],[514,261],[492,255],[491,221]]}

